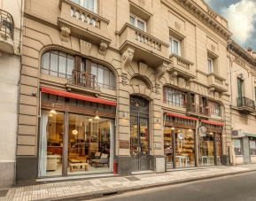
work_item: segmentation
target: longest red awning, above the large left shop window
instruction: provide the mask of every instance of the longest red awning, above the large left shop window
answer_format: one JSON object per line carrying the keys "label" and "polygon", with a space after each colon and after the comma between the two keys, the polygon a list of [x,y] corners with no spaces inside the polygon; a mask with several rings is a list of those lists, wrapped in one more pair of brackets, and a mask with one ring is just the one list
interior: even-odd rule
{"label": "longest red awning, above the large left shop window", "polygon": [[87,96],[83,96],[83,95],[80,95],[80,94],[74,94],[74,93],[66,92],[64,90],[50,89],[50,88],[41,87],[41,91],[43,93],[54,94],[54,95],[58,95],[58,96],[61,96],[61,97],[72,97],[72,98],[75,98],[75,99],[90,101],[90,102],[94,102],[94,103],[98,103],[98,104],[116,105],[116,103],[114,101],[109,101],[109,100],[105,100],[105,99],[101,99],[101,98],[97,98],[97,97],[87,97]]}

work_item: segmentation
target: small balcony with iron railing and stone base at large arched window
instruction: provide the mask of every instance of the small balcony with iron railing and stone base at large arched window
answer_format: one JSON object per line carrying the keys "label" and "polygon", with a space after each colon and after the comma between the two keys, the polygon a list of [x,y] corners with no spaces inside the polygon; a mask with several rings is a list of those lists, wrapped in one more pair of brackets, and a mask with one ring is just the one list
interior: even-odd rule
{"label": "small balcony with iron railing and stone base at large arched window", "polygon": [[96,96],[100,94],[100,87],[97,85],[97,76],[78,70],[73,70],[72,78],[67,81],[66,88],[69,91],[86,91]]}

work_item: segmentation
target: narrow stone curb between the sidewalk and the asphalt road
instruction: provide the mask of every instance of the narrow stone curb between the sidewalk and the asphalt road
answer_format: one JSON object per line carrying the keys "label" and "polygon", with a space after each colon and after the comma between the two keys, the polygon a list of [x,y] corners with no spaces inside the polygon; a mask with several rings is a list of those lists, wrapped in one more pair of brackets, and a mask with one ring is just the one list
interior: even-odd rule
{"label": "narrow stone curb between the sidewalk and the asphalt road", "polygon": [[197,182],[197,181],[203,181],[203,180],[212,179],[212,178],[218,178],[222,176],[230,176],[235,174],[244,174],[244,173],[251,173],[251,172],[256,172],[256,168],[253,168],[251,170],[243,170],[239,172],[230,172],[229,174],[213,174],[213,175],[194,177],[194,178],[189,178],[189,179],[179,180],[179,181],[151,183],[151,184],[145,184],[145,185],[140,185],[135,187],[121,188],[121,189],[99,190],[96,192],[78,194],[78,195],[67,196],[67,197],[51,197],[47,199],[40,199],[39,201],[62,201],[62,200],[73,201],[73,200],[81,200],[81,199],[84,200],[84,199],[91,199],[95,197],[110,196],[113,194],[120,194],[120,193],[129,192],[129,191],[158,188],[158,187],[176,185],[176,184],[187,183],[187,182]]}

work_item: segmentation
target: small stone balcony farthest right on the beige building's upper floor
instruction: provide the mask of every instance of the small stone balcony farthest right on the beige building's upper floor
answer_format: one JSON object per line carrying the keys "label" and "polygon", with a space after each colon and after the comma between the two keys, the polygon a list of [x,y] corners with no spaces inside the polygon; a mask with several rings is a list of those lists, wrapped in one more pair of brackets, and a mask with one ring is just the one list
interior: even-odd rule
{"label": "small stone balcony farthest right on the beige building's upper floor", "polygon": [[220,75],[215,73],[209,73],[208,74],[208,85],[209,88],[212,88],[219,93],[227,92],[228,86],[224,83],[226,81],[225,78],[222,78]]}

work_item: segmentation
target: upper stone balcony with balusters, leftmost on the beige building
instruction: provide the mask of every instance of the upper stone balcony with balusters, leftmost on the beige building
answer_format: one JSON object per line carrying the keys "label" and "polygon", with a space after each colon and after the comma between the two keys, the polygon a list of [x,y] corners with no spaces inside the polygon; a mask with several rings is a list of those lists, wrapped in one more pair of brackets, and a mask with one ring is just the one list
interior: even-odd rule
{"label": "upper stone balcony with balusters, leftmost on the beige building", "polygon": [[[72,35],[79,35],[94,43],[111,43],[107,32],[109,20],[90,12],[69,0],[59,0],[60,17],[58,26],[69,29]],[[64,31],[66,31],[64,29]]]}

